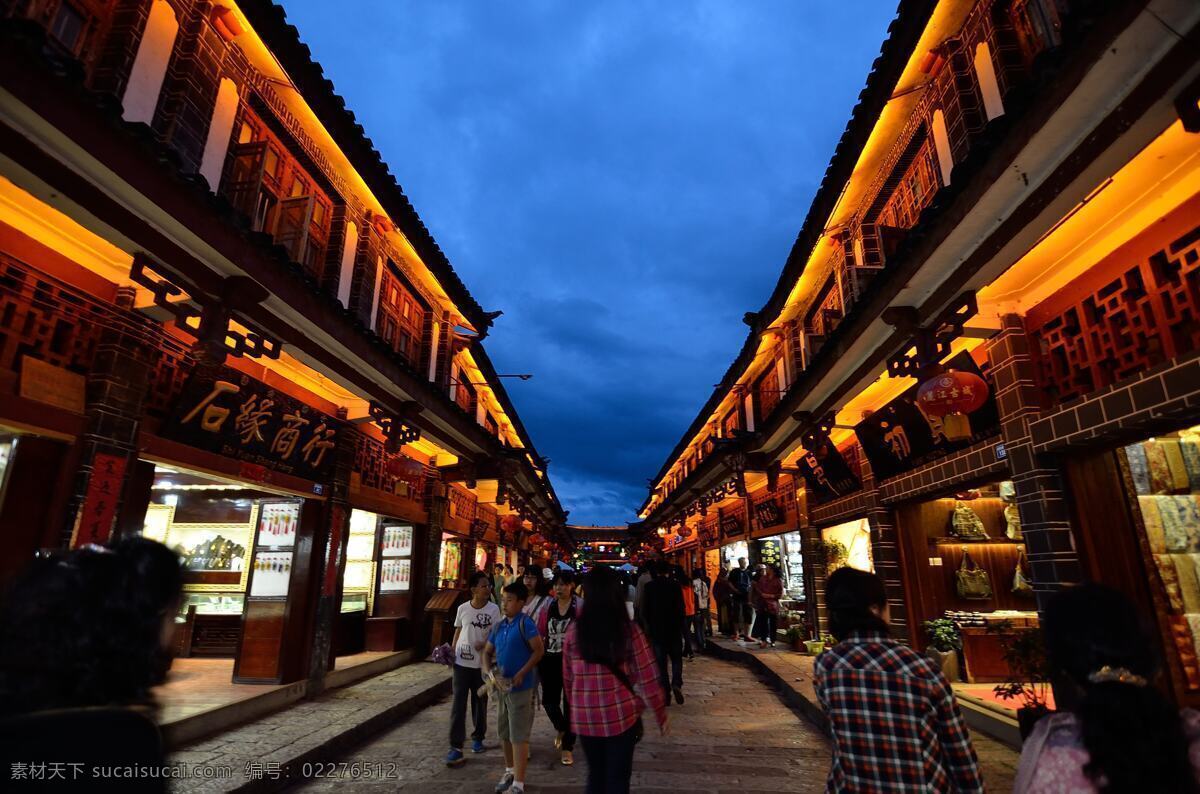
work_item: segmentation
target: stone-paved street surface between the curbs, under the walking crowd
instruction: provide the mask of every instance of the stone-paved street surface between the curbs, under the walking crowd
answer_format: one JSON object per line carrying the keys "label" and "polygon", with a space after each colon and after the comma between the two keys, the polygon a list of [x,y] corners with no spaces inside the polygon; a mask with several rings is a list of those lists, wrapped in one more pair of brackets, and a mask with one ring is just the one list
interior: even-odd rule
{"label": "stone-paved street surface between the curbs, under the walking crowd", "polygon": [[[829,745],[740,664],[697,657],[684,664],[684,705],[672,705],[671,735],[660,736],[647,722],[646,739],[634,762],[632,786],[650,792],[821,792],[829,769]],[[305,792],[491,792],[504,771],[491,708],[487,751],[448,769],[449,699],[338,759],[364,770],[395,764],[390,780],[313,780]],[[533,758],[526,788],[533,792],[582,790],[587,762],[576,747],[575,766],[558,763],[554,730],[545,712],[534,721]],[[353,768],[348,768],[353,771]],[[348,788],[347,788],[348,787]]]}

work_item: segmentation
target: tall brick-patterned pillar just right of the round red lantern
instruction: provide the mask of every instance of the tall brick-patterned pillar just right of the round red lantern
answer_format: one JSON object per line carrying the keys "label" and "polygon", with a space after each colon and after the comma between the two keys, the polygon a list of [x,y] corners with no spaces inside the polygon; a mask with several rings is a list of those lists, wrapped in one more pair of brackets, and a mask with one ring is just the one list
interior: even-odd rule
{"label": "tall brick-patterned pillar just right of the round red lantern", "polygon": [[1030,422],[1038,416],[1039,401],[1020,315],[1002,318],[1000,333],[988,343],[988,356],[1033,591],[1038,607],[1044,608],[1056,590],[1082,582],[1084,576],[1057,463],[1033,452]]}

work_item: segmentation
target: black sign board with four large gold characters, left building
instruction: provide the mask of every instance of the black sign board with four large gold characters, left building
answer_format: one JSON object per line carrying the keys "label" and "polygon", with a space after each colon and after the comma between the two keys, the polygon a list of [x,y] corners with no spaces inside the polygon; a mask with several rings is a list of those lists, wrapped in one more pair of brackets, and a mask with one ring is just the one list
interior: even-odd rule
{"label": "black sign board with four large gold characters, left building", "polygon": [[328,480],[341,421],[240,372],[193,374],[161,434],[250,467]]}

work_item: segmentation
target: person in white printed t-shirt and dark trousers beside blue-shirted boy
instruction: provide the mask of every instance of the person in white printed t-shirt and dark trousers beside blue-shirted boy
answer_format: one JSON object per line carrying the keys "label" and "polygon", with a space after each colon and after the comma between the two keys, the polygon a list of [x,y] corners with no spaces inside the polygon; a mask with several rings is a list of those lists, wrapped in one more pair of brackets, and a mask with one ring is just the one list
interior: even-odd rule
{"label": "person in white printed t-shirt and dark trousers beside blue-shirted boy", "polygon": [[487,734],[487,696],[479,694],[484,686],[481,672],[484,645],[492,626],[500,622],[500,608],[492,601],[492,581],[484,571],[475,571],[468,582],[470,601],[458,607],[454,619],[454,698],[450,702],[450,752],[446,766],[458,766],[467,758],[462,753],[467,740],[467,700],[474,722],[472,752],[484,752]]}

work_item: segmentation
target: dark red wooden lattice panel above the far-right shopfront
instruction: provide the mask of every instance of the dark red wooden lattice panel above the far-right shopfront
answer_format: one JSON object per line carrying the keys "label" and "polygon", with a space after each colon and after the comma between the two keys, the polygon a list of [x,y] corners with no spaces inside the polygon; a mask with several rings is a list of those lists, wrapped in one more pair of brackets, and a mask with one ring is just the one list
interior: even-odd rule
{"label": "dark red wooden lattice panel above the far-right shopfront", "polygon": [[1093,267],[1088,275],[1106,281],[1049,319],[1042,307],[1027,317],[1037,379],[1051,403],[1200,348],[1200,227],[1116,277],[1104,272]]}

